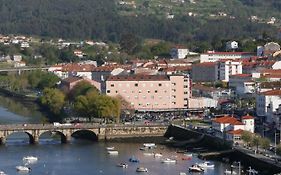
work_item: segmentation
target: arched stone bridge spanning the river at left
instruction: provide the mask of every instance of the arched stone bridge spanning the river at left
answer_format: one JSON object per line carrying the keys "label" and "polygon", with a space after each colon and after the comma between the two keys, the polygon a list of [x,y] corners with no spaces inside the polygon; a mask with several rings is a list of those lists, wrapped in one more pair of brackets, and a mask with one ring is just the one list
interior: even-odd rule
{"label": "arched stone bridge spanning the river at left", "polygon": [[79,132],[90,132],[97,140],[129,137],[153,137],[164,136],[167,125],[100,125],[90,123],[79,124],[13,124],[0,125],[0,143],[5,144],[7,138],[14,133],[26,133],[31,144],[39,143],[42,134],[50,132],[58,134],[62,143],[67,143],[71,137]]}

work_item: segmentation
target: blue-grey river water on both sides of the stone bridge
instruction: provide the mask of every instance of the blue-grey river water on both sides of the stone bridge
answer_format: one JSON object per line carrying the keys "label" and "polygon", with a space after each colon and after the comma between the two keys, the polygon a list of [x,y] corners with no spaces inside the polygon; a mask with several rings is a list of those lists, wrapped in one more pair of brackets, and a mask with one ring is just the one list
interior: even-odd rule
{"label": "blue-grey river water on both sides of the stone bridge", "polygon": [[[1,124],[40,123],[45,120],[35,108],[21,105],[0,96]],[[176,164],[164,164],[161,163],[163,158],[144,155],[144,151],[139,149],[142,143],[90,142],[73,139],[70,144],[60,144],[59,141],[46,136],[40,140],[39,145],[29,145],[27,139],[27,135],[24,134],[12,135],[8,138],[7,144],[0,147],[1,170],[9,175],[19,174],[15,167],[23,165],[22,158],[28,155],[39,158],[36,164],[30,165],[32,171],[29,174],[33,175],[134,175],[142,174],[136,172],[139,166],[148,169],[148,173],[143,174],[178,175],[180,172],[188,174],[188,167],[203,162],[196,155],[191,160],[182,160],[183,155],[176,153],[174,148],[161,145],[150,152],[162,153],[163,158],[177,159]],[[119,154],[109,155],[106,151],[108,146],[114,146]],[[131,156],[137,157],[140,163],[129,163]],[[127,162],[128,168],[117,167],[116,164],[120,162]],[[228,164],[211,163],[215,164],[215,168],[206,169],[205,175],[223,175],[226,168],[230,169]]]}

